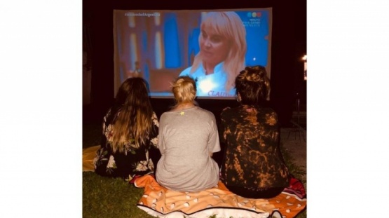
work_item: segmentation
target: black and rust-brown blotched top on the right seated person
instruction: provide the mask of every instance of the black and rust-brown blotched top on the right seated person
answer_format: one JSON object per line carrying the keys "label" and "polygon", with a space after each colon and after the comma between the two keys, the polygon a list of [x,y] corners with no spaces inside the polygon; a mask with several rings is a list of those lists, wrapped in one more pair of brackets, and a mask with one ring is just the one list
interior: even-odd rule
{"label": "black and rust-brown blotched top on the right seated person", "polygon": [[280,152],[278,116],[270,108],[241,105],[221,111],[226,145],[221,179],[248,189],[286,187],[289,172]]}

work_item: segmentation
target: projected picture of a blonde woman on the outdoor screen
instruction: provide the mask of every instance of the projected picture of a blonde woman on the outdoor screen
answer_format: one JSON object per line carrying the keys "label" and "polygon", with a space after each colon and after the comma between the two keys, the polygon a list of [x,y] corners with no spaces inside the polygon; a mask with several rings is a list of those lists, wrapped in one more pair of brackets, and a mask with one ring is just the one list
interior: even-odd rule
{"label": "projected picture of a blonde woman on the outdoor screen", "polygon": [[151,97],[172,97],[189,75],[203,98],[234,98],[245,66],[270,77],[271,8],[241,11],[114,11],[115,90],[128,77],[149,82]]}

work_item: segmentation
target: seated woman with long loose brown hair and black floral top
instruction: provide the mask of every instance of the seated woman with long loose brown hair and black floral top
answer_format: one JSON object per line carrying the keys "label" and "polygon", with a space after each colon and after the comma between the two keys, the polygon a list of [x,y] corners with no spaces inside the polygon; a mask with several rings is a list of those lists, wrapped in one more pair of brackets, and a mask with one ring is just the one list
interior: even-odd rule
{"label": "seated woman with long loose brown hair and black floral top", "polygon": [[158,118],[148,94],[142,78],[133,77],[122,83],[114,106],[103,119],[101,147],[93,161],[97,174],[130,181],[153,173],[161,154]]}

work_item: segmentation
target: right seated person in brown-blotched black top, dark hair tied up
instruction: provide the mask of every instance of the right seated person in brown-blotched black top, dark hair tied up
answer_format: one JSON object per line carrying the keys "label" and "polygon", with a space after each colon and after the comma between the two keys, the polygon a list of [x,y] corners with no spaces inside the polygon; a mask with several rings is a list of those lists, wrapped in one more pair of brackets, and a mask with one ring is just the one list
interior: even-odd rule
{"label": "right seated person in brown-blotched black top, dark hair tied up", "polygon": [[262,66],[246,67],[236,77],[240,106],[221,111],[226,152],[221,180],[244,198],[273,198],[289,186],[289,171],[280,151],[278,116],[264,107],[270,81]]}

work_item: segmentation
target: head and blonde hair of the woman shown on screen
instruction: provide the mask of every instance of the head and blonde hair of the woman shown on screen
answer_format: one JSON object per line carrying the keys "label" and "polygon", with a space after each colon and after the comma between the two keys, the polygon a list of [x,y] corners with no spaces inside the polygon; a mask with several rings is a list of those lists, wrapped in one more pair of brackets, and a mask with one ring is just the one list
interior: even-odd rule
{"label": "head and blonde hair of the woman shown on screen", "polygon": [[[198,64],[216,65],[224,62],[228,74],[226,89],[233,87],[238,71],[245,67],[246,29],[237,13],[233,11],[210,12],[200,25],[198,42],[200,53],[196,55],[193,68]],[[194,69],[193,69],[194,71]]]}

